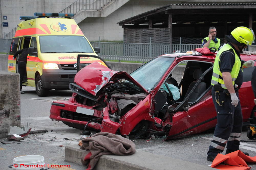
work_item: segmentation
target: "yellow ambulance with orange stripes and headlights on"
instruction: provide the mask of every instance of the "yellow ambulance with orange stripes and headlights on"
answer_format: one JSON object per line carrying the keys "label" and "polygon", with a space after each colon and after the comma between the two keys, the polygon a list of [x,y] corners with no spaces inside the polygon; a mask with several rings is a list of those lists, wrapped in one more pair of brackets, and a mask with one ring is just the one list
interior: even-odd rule
{"label": "yellow ambulance with orange stripes and headlights on", "polygon": [[[20,17],[8,56],[8,71],[18,72],[17,58],[13,55],[28,48],[24,86],[36,87],[38,96],[46,96],[50,89],[67,90],[77,72],[77,55],[96,55],[100,48],[91,46],[73,14],[35,13]],[[58,18],[54,18],[58,17]],[[62,17],[62,18],[60,18]],[[81,68],[93,62],[102,62],[90,56],[81,57]],[[102,63],[103,64],[103,63]]]}

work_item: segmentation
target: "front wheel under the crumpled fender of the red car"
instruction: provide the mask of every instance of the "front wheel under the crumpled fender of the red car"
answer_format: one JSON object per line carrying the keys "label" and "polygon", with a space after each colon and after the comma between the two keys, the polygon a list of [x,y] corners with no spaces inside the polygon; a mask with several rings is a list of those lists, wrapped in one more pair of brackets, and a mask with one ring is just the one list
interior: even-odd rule
{"label": "front wheel under the crumpled fender of the red car", "polygon": [[130,139],[138,139],[145,136],[145,133],[148,128],[148,121],[142,120],[140,123],[138,123],[130,132],[129,138]]}

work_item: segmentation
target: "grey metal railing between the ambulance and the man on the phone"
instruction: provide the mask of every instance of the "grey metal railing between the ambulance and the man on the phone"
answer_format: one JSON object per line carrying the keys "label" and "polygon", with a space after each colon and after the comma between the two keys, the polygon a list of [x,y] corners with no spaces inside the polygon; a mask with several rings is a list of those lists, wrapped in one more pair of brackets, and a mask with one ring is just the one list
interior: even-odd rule
{"label": "grey metal railing between the ambulance and the man on the phone", "polygon": [[201,44],[143,44],[143,43],[109,43],[91,42],[93,47],[100,47],[99,56],[103,59],[128,60],[147,62],[156,56],[172,53],[192,51],[200,48]]}

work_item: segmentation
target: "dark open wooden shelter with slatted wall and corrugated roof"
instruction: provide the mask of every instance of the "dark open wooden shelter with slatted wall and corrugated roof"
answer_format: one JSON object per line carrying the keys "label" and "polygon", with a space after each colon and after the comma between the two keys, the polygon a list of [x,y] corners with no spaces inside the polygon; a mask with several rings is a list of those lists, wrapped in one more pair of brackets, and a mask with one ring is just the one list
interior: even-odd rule
{"label": "dark open wooden shelter with slatted wall and corrugated roof", "polygon": [[[170,4],[118,22],[126,43],[171,43],[173,37],[217,37],[239,26],[256,28],[256,3]],[[255,30],[256,31],[256,30]]]}

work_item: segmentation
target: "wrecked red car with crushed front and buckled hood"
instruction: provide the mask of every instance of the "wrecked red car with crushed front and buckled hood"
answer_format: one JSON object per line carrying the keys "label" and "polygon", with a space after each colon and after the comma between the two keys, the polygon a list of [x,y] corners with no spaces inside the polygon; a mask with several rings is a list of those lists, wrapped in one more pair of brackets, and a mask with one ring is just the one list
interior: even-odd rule
{"label": "wrecked red car with crushed front and buckled hood", "polygon": [[[81,56],[84,55],[78,56],[78,65]],[[72,97],[52,103],[50,118],[73,128],[130,138],[155,133],[171,139],[205,131],[217,123],[211,97],[214,59],[215,55],[198,52],[165,54],[131,74],[92,63],[70,83]],[[256,60],[256,55],[241,55],[241,59]],[[255,116],[252,71],[253,68],[243,70],[239,90],[244,125],[249,125],[248,118]],[[177,87],[178,98],[176,95],[174,99],[170,84]]]}

